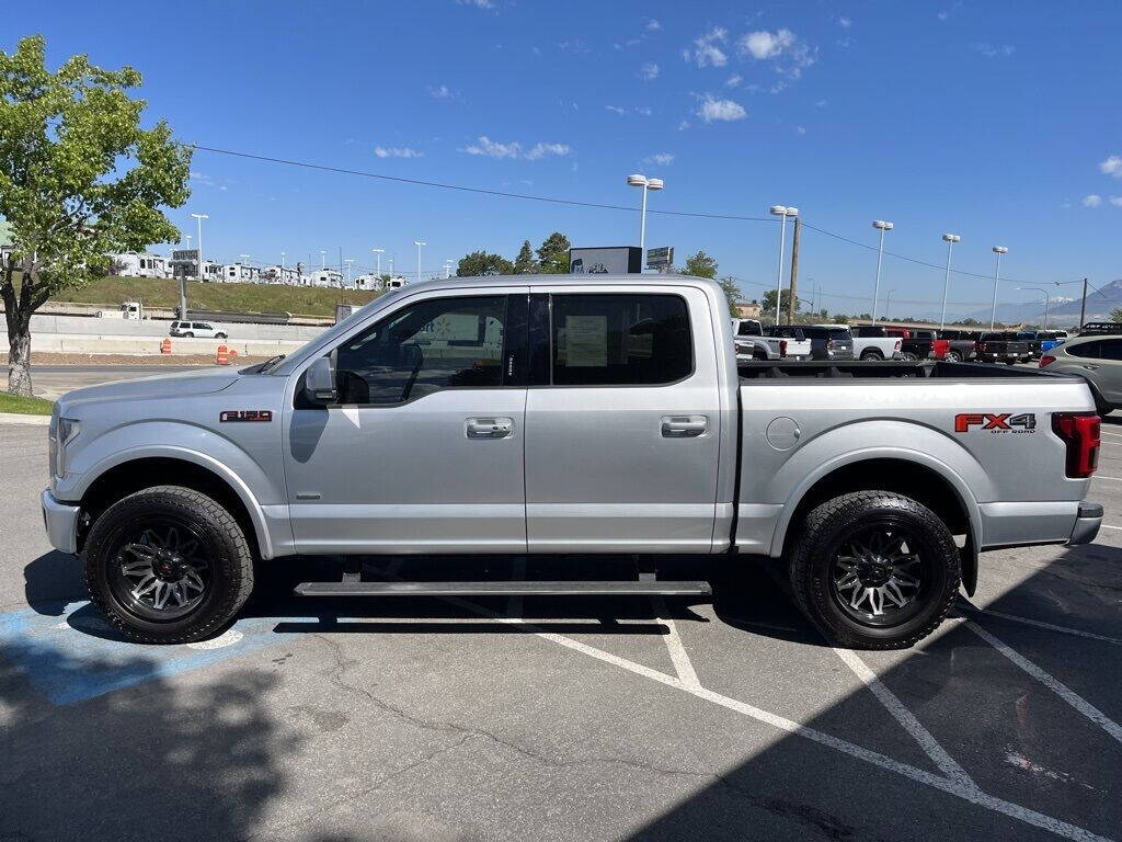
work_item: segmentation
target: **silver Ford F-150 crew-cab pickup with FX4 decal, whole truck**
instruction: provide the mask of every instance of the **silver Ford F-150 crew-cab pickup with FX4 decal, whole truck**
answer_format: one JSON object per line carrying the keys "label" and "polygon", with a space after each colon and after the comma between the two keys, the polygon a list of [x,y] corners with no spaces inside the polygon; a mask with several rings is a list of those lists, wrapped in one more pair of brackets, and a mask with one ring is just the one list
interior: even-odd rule
{"label": "silver Ford F-150 crew-cab pickup with FX4 decal, whole truck", "polygon": [[[1083,382],[738,366],[720,287],[693,277],[410,285],[284,359],[71,392],[49,437],[50,541],[146,642],[217,633],[255,565],[305,555],[342,557],[340,578],[297,593],[360,597],[705,597],[668,562],[770,557],[830,640],[909,646],[973,593],[981,550],[1086,542],[1102,520],[1083,502],[1098,451]],[[628,553],[638,570],[362,580],[376,553]]]}

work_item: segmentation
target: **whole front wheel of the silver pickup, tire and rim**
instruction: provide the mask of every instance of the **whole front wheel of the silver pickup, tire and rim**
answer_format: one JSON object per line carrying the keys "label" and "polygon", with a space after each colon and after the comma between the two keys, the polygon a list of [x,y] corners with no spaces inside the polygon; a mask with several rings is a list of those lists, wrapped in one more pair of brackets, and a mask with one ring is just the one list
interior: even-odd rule
{"label": "whole front wheel of the silver pickup, tire and rim", "polygon": [[83,569],[114,629],[144,643],[187,643],[229,623],[254,587],[241,527],[211,497],[162,485],[94,521]]}

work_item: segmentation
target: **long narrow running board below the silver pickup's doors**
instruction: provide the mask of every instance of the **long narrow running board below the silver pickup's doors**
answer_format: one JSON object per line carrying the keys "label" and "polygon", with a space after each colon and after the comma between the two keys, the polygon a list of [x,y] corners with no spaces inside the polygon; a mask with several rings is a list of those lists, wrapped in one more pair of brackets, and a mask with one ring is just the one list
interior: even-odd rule
{"label": "long narrow running board below the silver pickup's doors", "polygon": [[304,582],[298,596],[712,596],[708,582]]}

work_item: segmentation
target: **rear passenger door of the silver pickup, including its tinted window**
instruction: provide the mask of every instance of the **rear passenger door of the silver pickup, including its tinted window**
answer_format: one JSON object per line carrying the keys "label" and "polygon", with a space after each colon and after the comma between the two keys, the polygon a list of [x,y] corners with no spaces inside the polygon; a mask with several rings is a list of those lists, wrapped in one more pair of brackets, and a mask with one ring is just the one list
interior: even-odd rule
{"label": "rear passenger door of the silver pickup, including its tinted window", "polygon": [[541,364],[526,401],[530,551],[711,550],[721,418],[711,337],[699,289],[531,295]]}

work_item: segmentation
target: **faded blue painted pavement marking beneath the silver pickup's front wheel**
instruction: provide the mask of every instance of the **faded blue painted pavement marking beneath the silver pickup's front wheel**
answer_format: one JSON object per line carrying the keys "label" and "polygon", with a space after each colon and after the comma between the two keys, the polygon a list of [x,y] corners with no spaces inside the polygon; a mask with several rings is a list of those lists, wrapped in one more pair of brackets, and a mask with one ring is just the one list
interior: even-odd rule
{"label": "faded blue painted pavement marking beneath the silver pickup's front wheel", "polygon": [[0,613],[0,655],[53,704],[70,705],[276,646],[276,624],[247,617],[213,640],[146,646],[121,639],[89,602],[58,603],[52,614]]}

